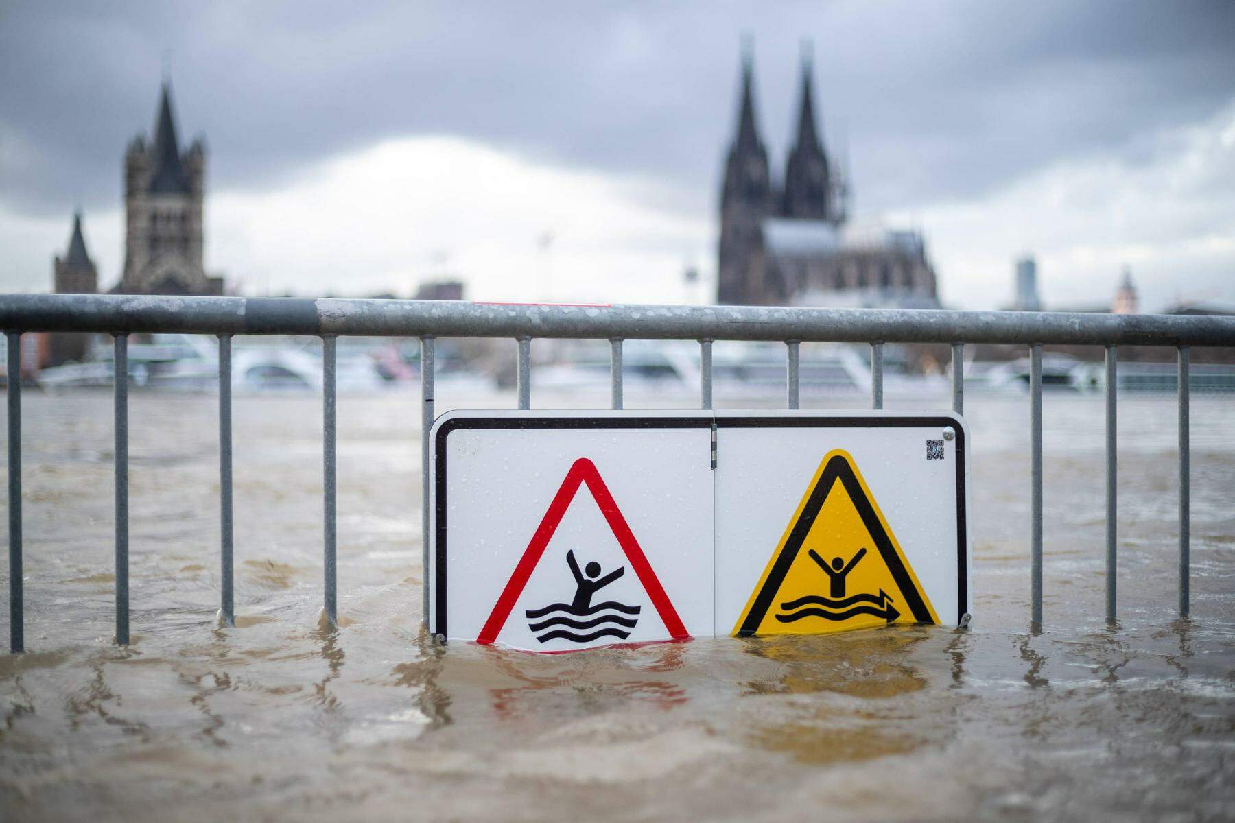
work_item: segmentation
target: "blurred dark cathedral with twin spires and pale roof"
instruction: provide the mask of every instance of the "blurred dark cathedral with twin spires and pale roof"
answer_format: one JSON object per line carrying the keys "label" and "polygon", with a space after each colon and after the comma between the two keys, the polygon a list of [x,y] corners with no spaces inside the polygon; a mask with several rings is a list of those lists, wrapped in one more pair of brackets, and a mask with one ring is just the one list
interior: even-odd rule
{"label": "blurred dark cathedral with twin spires and pale roof", "polygon": [[829,157],[816,125],[809,54],[779,181],[758,133],[753,74],[747,53],[721,189],[718,302],[939,308],[921,234],[850,221],[845,172]]}

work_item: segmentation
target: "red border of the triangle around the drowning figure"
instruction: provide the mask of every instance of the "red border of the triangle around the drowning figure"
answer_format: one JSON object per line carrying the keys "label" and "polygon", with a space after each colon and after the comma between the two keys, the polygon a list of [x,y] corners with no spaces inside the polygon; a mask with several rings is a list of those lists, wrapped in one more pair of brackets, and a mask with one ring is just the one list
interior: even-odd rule
{"label": "red border of the triangle around the drowning figure", "polygon": [[647,596],[661,616],[661,621],[664,623],[664,628],[668,629],[669,635],[674,639],[690,637],[682,623],[682,618],[678,617],[677,610],[673,608],[673,603],[669,602],[669,596],[664,593],[664,587],[661,586],[661,581],[643,555],[643,549],[638,547],[638,540],[635,539],[635,534],[630,531],[626,518],[622,517],[621,511],[618,508],[618,502],[609,492],[609,487],[605,486],[605,481],[600,479],[600,473],[597,471],[595,464],[588,458],[579,458],[571,466],[571,470],[566,473],[566,479],[553,496],[553,502],[550,503],[548,511],[545,512],[540,526],[536,527],[536,533],[532,534],[531,542],[524,549],[524,555],[519,559],[519,565],[515,566],[510,580],[506,581],[506,587],[501,590],[501,596],[498,597],[498,602],[489,613],[489,619],[484,622],[484,628],[480,629],[480,635],[475,639],[477,643],[493,643],[498,639],[498,634],[501,633],[501,627],[506,624],[506,618],[510,617],[519,595],[522,593],[524,586],[527,585],[527,580],[532,575],[532,570],[536,569],[536,564],[543,556],[545,548],[553,538],[553,533],[562,522],[562,517],[571,507],[571,501],[574,500],[574,495],[583,484],[588,484],[588,490],[597,501],[600,513],[604,515],[605,521],[609,523],[609,528],[618,539],[618,544],[626,553],[626,559],[630,560],[631,569],[635,570],[640,584],[647,591]]}

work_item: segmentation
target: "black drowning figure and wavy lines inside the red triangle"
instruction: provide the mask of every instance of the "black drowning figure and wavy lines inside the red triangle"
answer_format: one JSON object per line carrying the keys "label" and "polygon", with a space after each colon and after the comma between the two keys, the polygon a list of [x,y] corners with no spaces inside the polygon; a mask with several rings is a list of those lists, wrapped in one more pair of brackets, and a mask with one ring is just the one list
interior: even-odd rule
{"label": "black drowning figure and wavy lines inside the red triangle", "polygon": [[566,553],[566,563],[571,566],[571,574],[574,576],[574,597],[569,603],[551,603],[543,608],[530,608],[525,612],[527,628],[532,631],[536,639],[541,643],[555,638],[587,643],[603,637],[615,637],[621,640],[629,638],[630,629],[638,624],[641,606],[630,606],[611,600],[595,605],[592,602],[592,596],[621,577],[626,573],[626,566],[619,566],[601,577],[600,564],[590,560],[580,571],[579,563],[574,559],[574,549]]}

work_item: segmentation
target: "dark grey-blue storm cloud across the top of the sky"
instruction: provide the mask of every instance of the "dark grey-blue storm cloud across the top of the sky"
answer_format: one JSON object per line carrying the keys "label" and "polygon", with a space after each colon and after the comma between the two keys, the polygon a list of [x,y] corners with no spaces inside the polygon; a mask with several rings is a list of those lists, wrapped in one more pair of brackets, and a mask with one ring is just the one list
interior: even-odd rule
{"label": "dark grey-blue storm cloud across the top of the sky", "polygon": [[[783,162],[799,42],[858,205],[972,196],[1055,160],[1137,158],[1235,95],[1235,5],[19,4],[0,9],[0,201],[119,204],[164,52],[212,189],[278,185],[388,137],[450,133],[653,175],[710,210],[739,36]],[[415,192],[409,192],[415,196]]]}

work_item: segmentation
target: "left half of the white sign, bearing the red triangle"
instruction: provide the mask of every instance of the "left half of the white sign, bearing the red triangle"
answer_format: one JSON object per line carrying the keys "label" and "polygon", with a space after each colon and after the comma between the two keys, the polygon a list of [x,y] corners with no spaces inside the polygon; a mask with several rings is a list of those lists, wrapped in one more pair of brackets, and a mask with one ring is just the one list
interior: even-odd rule
{"label": "left half of the white sign, bearing the red triangle", "polygon": [[450,413],[431,629],[537,651],[713,632],[711,418]]}

